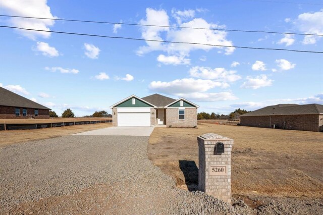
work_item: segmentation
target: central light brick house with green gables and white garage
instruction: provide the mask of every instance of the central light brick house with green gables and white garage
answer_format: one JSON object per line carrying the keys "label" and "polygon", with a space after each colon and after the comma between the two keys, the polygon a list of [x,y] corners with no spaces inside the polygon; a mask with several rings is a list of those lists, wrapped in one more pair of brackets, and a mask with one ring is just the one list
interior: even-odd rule
{"label": "central light brick house with green gables and white garage", "polygon": [[153,94],[143,98],[131,95],[110,108],[113,126],[196,127],[199,106],[185,98]]}

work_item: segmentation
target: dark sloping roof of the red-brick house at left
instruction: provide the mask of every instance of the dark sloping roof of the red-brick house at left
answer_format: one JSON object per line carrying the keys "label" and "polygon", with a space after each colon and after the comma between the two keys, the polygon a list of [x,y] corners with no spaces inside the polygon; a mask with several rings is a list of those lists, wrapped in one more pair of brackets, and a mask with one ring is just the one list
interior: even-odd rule
{"label": "dark sloping roof of the red-brick house at left", "polygon": [[15,107],[19,107],[19,108],[33,108],[33,109],[51,110],[41,104],[38,104],[32,100],[29,100],[28,98],[25,98],[21,95],[14,93],[14,92],[11,92],[3,87],[0,87],[0,105],[15,106]]}

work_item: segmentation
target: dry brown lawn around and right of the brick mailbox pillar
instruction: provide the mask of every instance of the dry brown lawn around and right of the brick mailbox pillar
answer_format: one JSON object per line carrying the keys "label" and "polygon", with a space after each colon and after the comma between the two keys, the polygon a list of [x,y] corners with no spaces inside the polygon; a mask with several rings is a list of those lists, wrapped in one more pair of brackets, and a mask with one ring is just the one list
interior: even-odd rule
{"label": "dry brown lawn around and right of the brick mailbox pillar", "polygon": [[148,156],[179,187],[196,186],[196,171],[185,183],[179,161],[195,162],[198,167],[196,136],[209,132],[234,139],[233,194],[323,197],[323,133],[319,132],[213,124],[198,124],[197,129],[158,127],[150,136]]}

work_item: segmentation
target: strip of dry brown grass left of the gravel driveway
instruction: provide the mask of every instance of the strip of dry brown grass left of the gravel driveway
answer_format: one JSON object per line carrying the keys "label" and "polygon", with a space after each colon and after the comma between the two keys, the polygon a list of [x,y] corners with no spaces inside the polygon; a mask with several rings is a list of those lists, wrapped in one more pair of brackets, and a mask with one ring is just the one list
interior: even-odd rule
{"label": "strip of dry brown grass left of the gravel driveway", "polygon": [[75,125],[75,126],[65,126],[65,127],[56,127],[56,128],[43,128],[43,129],[37,129],[37,130],[0,131],[0,147],[7,146],[13,143],[46,139],[46,138],[52,138],[52,137],[60,137],[64,135],[76,134],[84,131],[107,128],[111,126],[112,126],[112,123],[98,123],[98,124],[91,124],[91,125]]}

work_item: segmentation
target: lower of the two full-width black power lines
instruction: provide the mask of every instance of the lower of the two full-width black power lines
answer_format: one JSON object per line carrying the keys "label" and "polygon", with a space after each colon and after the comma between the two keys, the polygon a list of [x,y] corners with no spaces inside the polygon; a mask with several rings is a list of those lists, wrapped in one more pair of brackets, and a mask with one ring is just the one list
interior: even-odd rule
{"label": "lower of the two full-width black power lines", "polygon": [[164,41],[164,40],[155,40],[155,39],[139,39],[131,37],[117,37],[117,36],[104,36],[96,34],[83,34],[83,33],[73,33],[73,32],[63,32],[63,31],[47,31],[47,30],[37,30],[30,28],[19,28],[14,26],[3,26],[2,28],[14,28],[28,31],[40,31],[40,32],[49,32],[49,33],[60,33],[60,34],[72,34],[72,35],[82,35],[82,36],[94,36],[94,37],[104,37],[104,38],[114,38],[114,39],[129,39],[129,40],[140,40],[140,41],[151,41],[151,42],[165,42],[165,43],[177,43],[177,44],[191,44],[191,45],[207,45],[207,46],[217,46],[217,47],[232,47],[232,48],[248,48],[248,49],[261,49],[261,50],[280,50],[280,51],[295,51],[295,52],[307,52],[307,53],[323,53],[322,51],[307,51],[307,50],[294,50],[294,49],[285,49],[285,48],[259,48],[259,47],[247,47],[247,46],[235,46],[235,45],[215,45],[215,44],[205,44],[198,42],[177,42],[177,41]]}

